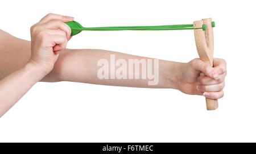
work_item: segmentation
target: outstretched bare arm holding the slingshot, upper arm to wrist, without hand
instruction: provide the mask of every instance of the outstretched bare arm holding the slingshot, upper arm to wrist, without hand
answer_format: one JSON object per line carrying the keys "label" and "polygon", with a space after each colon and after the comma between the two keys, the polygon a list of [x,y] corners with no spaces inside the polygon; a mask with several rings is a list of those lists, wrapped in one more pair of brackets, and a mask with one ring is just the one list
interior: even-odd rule
{"label": "outstretched bare arm holding the slingshot, upper arm to wrist, without hand", "polygon": [[[30,41],[15,38],[14,36],[0,30],[0,41],[5,44],[0,47],[0,79],[7,76],[14,70],[22,68],[26,65],[31,56]],[[15,45],[13,45],[15,44]],[[125,53],[105,51],[101,49],[64,49],[60,53],[59,59],[53,70],[47,74],[41,81],[57,82],[57,81],[73,81],[85,82],[89,84],[114,85],[114,86],[131,86],[143,88],[176,88],[176,75],[173,73],[175,62],[159,60],[159,83],[149,86],[149,79],[109,79],[100,80],[97,77],[97,62],[100,59],[106,59],[110,63],[110,55],[115,55],[115,60],[123,59],[127,63],[129,59],[150,59],[141,56],[127,55]],[[128,64],[127,64],[128,66]],[[152,59],[154,67],[154,59]],[[115,67],[117,70],[118,67]],[[139,70],[142,76],[142,68]],[[110,73],[109,73],[110,74]],[[152,69],[154,74],[154,68]],[[134,68],[135,75],[135,68]],[[109,75],[110,76],[110,75]]]}

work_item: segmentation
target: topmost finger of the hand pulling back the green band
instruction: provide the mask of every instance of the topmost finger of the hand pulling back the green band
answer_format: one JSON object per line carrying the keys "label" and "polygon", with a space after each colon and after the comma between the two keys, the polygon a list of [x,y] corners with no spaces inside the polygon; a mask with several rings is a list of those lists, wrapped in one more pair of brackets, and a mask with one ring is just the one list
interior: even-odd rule
{"label": "topmost finger of the hand pulling back the green band", "polygon": [[46,16],[44,16],[44,18],[42,18],[39,23],[43,24],[43,23],[47,23],[50,20],[60,20],[61,22],[71,22],[74,18],[71,16],[64,16],[64,15],[59,15],[59,14],[47,14]]}

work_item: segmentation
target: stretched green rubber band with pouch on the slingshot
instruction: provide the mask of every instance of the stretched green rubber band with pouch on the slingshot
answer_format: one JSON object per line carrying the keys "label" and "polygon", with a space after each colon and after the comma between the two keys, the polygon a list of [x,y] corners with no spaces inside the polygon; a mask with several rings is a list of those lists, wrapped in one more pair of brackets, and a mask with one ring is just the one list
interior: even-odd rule
{"label": "stretched green rubber band with pouch on the slingshot", "polygon": [[71,36],[79,34],[81,31],[163,31],[163,30],[206,30],[205,24],[202,28],[193,28],[193,24],[174,24],[174,25],[162,25],[162,26],[119,26],[119,27],[82,27],[80,23],[76,21],[67,22],[71,28]]}

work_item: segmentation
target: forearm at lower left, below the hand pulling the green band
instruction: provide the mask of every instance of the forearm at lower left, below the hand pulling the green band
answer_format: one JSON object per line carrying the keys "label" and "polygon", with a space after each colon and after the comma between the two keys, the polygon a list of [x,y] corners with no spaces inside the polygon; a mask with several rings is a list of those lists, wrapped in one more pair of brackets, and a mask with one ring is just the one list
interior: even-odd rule
{"label": "forearm at lower left, below the hand pulling the green band", "polygon": [[43,78],[34,65],[28,63],[0,81],[0,117]]}

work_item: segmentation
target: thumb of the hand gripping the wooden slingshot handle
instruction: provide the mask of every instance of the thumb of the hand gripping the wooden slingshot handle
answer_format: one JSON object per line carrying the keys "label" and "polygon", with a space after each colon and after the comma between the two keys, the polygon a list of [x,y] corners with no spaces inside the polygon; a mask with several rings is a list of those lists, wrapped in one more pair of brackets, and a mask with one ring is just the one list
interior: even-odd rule
{"label": "thumb of the hand gripping the wooden slingshot handle", "polygon": [[194,69],[203,72],[208,77],[213,78],[215,80],[218,79],[218,73],[216,72],[216,70],[212,68],[212,66],[210,66],[209,64],[204,63],[202,60],[194,59],[191,61],[191,65]]}

